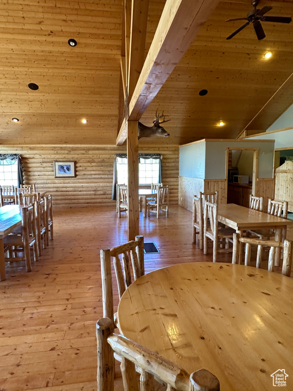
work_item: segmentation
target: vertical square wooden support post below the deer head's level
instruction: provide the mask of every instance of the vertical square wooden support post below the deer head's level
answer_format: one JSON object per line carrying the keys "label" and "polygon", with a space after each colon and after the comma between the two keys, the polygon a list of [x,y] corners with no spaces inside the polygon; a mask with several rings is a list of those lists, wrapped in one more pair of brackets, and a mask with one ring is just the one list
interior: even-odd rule
{"label": "vertical square wooden support post below the deer head's level", "polygon": [[128,240],[139,235],[138,202],[138,121],[128,121]]}

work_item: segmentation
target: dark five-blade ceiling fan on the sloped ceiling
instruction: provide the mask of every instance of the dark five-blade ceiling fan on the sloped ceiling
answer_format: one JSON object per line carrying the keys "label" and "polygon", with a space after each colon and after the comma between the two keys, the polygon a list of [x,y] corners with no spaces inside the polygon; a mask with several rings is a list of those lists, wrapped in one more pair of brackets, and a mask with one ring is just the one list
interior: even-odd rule
{"label": "dark five-blade ceiling fan on the sloped ceiling", "polygon": [[260,10],[256,9],[259,0],[253,0],[251,4],[254,7],[254,10],[248,12],[246,18],[237,18],[237,19],[228,19],[226,22],[232,22],[234,20],[247,20],[245,24],[243,24],[239,29],[237,29],[234,33],[229,35],[226,39],[231,39],[236,36],[244,27],[248,26],[248,24],[253,23],[253,27],[258,40],[261,40],[266,37],[265,32],[262,29],[262,25],[260,21],[263,22],[274,22],[274,23],[290,23],[292,18],[287,16],[264,16],[267,12],[271,11],[273,7],[262,7]]}

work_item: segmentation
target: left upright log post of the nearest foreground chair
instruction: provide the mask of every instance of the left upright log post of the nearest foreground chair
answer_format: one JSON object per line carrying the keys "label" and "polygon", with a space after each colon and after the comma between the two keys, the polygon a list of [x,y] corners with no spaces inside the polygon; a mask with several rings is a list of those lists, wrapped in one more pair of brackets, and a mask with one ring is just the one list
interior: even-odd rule
{"label": "left upright log post of the nearest foreground chair", "polygon": [[107,343],[114,326],[109,318],[99,319],[96,324],[98,370],[97,391],[114,391],[114,353]]}

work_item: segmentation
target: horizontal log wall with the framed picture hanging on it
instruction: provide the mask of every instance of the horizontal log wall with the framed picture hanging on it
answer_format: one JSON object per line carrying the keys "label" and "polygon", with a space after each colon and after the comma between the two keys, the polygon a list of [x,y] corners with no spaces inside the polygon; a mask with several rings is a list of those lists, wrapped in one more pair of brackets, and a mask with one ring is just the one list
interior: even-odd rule
{"label": "horizontal log wall with the framed picture hanging on it", "polygon": [[[89,145],[0,146],[0,153],[19,153],[24,183],[35,183],[38,191],[52,194],[56,207],[109,206],[116,153],[124,147]],[[162,154],[162,181],[169,185],[171,204],[178,204],[179,147],[142,147],[139,153]],[[54,178],[53,161],[76,161],[76,178]]]}

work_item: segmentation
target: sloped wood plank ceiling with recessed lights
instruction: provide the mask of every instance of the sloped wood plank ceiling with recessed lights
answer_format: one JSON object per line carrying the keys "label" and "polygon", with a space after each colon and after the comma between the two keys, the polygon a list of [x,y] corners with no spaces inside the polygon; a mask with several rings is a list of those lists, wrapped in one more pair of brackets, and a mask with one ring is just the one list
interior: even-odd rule
{"label": "sloped wood plank ceiling with recessed lights", "polygon": [[[165,0],[151,0],[148,52]],[[293,16],[291,1],[261,0],[270,15]],[[250,1],[221,1],[174,69],[141,122],[156,109],[171,121],[169,138],[141,144],[184,144],[237,136],[292,73],[293,22],[263,22],[258,41],[251,25],[230,41]],[[121,0],[4,0],[0,4],[0,143],[115,144],[118,125]],[[70,47],[68,39],[77,41]],[[272,51],[270,60],[263,54]],[[38,91],[28,89],[30,82]],[[265,131],[293,103],[282,89],[248,129]],[[206,96],[199,96],[207,89]],[[266,111],[267,110],[267,111]],[[13,117],[19,118],[13,123]],[[81,119],[86,118],[83,125]],[[217,124],[225,122],[223,127]]]}

